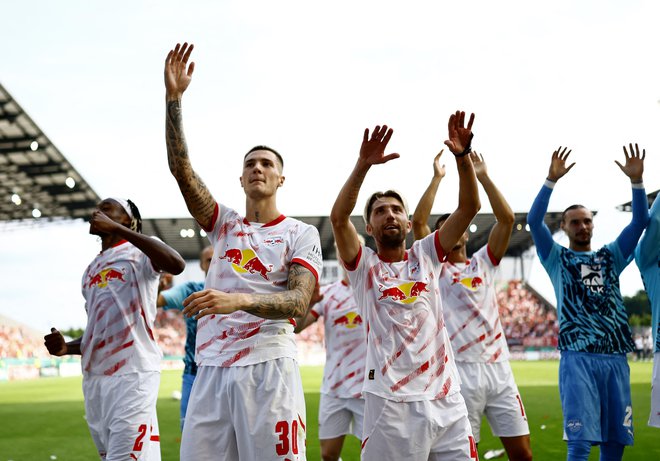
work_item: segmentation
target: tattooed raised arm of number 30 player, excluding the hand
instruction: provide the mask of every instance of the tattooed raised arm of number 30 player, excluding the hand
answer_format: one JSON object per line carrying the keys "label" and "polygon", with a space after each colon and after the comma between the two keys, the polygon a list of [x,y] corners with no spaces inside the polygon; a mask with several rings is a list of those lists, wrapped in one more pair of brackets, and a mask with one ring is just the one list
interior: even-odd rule
{"label": "tattooed raised arm of number 30 player, excluding the hand", "polygon": [[168,101],[165,118],[165,141],[167,161],[172,175],[176,178],[188,210],[206,229],[213,223],[215,199],[201,178],[195,173],[188,157],[188,146],[183,134],[181,100]]}

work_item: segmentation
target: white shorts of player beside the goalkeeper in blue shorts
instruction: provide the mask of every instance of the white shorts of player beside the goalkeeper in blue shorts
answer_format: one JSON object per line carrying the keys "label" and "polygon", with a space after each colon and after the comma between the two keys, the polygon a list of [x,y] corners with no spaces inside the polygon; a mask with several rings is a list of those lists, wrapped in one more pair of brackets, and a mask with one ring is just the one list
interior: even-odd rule
{"label": "white shorts of player beside the goalkeeper in blue shorts", "polygon": [[529,424],[518,386],[508,361],[496,363],[456,362],[461,377],[472,434],[481,440],[481,419],[488,419],[495,437],[529,434]]}

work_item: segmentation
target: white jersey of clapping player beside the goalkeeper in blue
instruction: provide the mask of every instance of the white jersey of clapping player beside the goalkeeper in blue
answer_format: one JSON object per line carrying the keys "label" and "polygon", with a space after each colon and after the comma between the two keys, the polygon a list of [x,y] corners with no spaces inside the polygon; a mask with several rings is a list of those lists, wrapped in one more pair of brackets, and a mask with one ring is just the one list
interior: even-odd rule
{"label": "white jersey of clapping player beside the goalkeeper in blue", "polygon": [[440,291],[445,322],[458,362],[509,359],[495,291],[498,268],[488,245],[467,263],[445,262],[442,266]]}

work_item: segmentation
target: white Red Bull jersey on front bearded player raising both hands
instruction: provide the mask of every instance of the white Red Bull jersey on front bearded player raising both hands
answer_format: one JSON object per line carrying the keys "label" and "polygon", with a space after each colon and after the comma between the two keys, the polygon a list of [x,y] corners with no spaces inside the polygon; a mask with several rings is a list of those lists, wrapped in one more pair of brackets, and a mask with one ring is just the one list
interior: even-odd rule
{"label": "white Red Bull jersey on front bearded player raising both hands", "polygon": [[442,316],[439,256],[444,259],[438,233],[433,232],[413,243],[403,261],[382,261],[362,247],[356,267],[349,268],[367,323],[363,392],[411,402],[459,391]]}

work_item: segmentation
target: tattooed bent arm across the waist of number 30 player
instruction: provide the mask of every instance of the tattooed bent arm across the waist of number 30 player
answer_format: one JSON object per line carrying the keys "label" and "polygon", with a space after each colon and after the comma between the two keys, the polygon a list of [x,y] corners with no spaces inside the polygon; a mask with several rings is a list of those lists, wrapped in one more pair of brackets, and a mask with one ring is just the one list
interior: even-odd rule
{"label": "tattooed bent arm across the waist of number 30 player", "polygon": [[301,317],[307,311],[315,284],[316,278],[309,269],[293,264],[286,291],[250,295],[251,306],[245,311],[264,319]]}

